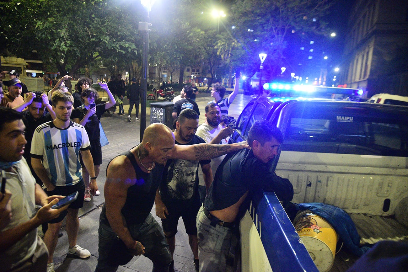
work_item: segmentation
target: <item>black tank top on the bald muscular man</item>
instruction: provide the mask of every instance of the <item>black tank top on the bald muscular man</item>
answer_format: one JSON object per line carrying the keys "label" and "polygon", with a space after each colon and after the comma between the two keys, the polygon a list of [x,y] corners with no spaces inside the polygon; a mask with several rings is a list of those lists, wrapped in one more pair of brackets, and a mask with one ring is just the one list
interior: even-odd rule
{"label": "black tank top on the bald muscular man", "polygon": [[[156,164],[150,173],[146,173],[140,169],[135,157],[130,151],[119,156],[122,155],[125,155],[131,161],[137,177],[135,181],[129,180],[133,185],[127,190],[126,202],[121,210],[127,226],[133,226],[143,223],[153,208],[156,190],[159,187],[164,167]],[[131,170],[129,169],[129,171]],[[100,219],[104,224],[109,226],[109,222],[106,219],[105,205],[102,207]]]}

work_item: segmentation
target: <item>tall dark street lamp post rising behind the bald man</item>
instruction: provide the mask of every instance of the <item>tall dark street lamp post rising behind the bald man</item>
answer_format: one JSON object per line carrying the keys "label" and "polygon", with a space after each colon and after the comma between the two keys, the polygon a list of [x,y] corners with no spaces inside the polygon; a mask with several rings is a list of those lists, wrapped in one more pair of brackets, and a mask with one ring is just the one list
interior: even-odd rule
{"label": "tall dark street lamp post rising behind the bald man", "polygon": [[142,62],[142,84],[141,84],[141,98],[140,103],[140,142],[143,139],[143,133],[146,129],[146,97],[147,97],[147,75],[149,70],[149,64],[147,62],[149,57],[149,12],[151,11],[151,6],[155,0],[140,0],[142,6],[146,8],[147,17],[145,22],[139,22],[139,31],[143,34],[143,62]]}

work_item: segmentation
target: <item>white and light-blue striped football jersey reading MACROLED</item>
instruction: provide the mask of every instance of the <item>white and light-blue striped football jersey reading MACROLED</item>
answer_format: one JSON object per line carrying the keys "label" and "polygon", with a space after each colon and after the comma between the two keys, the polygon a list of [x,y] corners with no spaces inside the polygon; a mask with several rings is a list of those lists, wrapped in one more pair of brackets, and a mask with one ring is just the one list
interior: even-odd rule
{"label": "white and light-blue striped football jersey reading MACROLED", "polygon": [[38,126],[31,142],[31,157],[43,159],[43,165],[54,186],[71,186],[82,179],[80,150],[91,147],[83,126],[70,122],[60,129],[53,122]]}

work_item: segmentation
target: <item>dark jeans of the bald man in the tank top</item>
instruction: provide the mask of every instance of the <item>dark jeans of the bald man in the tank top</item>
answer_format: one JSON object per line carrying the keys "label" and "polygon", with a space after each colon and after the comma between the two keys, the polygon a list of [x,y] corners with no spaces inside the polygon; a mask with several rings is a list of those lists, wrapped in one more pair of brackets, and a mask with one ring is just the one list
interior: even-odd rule
{"label": "dark jeans of the bald man in the tank top", "polygon": [[[139,241],[145,247],[144,256],[153,262],[153,272],[168,272],[172,261],[167,245],[164,239],[162,228],[151,214],[144,223],[134,226],[128,226],[129,232],[135,241]],[[107,262],[109,251],[112,248],[116,238],[115,232],[103,224],[99,223],[99,243],[98,243],[98,265],[95,271],[116,271],[118,266],[111,266]]]}

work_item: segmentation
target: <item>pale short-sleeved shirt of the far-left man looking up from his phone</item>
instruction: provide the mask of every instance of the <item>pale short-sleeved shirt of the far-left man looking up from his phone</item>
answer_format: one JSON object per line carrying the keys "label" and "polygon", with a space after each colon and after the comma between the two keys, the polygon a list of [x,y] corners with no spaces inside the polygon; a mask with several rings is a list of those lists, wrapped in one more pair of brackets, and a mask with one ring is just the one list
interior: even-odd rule
{"label": "pale short-sleeved shirt of the far-left man looking up from his phone", "polygon": [[[6,188],[10,190],[11,212],[13,217],[3,229],[9,230],[29,221],[35,215],[35,179],[24,157],[15,164],[16,172],[5,172]],[[23,187],[25,190],[23,190]],[[9,271],[16,265],[33,256],[37,247],[37,228],[31,230],[22,239],[13,244],[9,249],[0,252],[0,270]]]}

